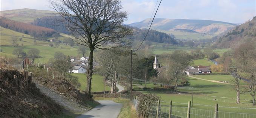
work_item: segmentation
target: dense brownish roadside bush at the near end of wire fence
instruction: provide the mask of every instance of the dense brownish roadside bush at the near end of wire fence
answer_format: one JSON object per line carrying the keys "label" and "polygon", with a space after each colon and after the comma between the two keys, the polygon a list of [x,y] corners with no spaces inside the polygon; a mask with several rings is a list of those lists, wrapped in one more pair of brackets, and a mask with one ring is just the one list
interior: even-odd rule
{"label": "dense brownish roadside bush at the near end of wire fence", "polygon": [[148,118],[159,99],[159,96],[156,96],[156,94],[140,94],[137,106],[139,117]]}

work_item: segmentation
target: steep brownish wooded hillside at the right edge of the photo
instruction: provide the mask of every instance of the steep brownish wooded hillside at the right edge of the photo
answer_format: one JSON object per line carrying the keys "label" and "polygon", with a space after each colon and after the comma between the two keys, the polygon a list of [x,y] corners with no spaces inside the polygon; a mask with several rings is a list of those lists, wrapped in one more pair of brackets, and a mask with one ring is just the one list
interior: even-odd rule
{"label": "steep brownish wooded hillside at the right edge of the photo", "polygon": [[256,16],[219,37],[215,45],[219,48],[236,48],[245,42],[256,43]]}

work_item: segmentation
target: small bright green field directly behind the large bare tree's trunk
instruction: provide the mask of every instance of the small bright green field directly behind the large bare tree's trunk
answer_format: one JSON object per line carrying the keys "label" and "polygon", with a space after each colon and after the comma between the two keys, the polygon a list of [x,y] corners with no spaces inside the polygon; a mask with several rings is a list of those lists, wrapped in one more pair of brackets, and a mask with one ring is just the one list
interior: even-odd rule
{"label": "small bright green field directly behind the large bare tree's trunk", "polygon": [[[72,73],[72,75],[78,77],[78,82],[81,84],[80,90],[84,91],[87,86],[86,75],[82,73]],[[103,76],[93,75],[92,76],[92,92],[104,91]],[[110,91],[110,87],[106,85],[106,91]]]}

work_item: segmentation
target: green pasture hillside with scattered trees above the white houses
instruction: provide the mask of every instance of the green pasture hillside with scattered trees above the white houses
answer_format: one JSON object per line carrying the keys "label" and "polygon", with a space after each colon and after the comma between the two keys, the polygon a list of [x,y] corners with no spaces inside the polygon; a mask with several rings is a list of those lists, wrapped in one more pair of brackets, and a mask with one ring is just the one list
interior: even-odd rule
{"label": "green pasture hillside with scattered trees above the white houses", "polygon": [[[2,49],[2,52],[0,52],[1,56],[8,56],[8,57],[14,57],[15,55],[12,54],[12,51],[17,48],[13,47],[11,44],[11,39],[13,37],[18,37],[22,38],[22,40],[18,40],[18,44],[20,47],[24,49],[25,52],[28,52],[29,49],[31,48],[36,48],[40,50],[40,57],[37,58],[35,61],[36,62],[47,62],[49,58],[54,57],[54,53],[57,51],[63,52],[65,55],[70,55],[70,56],[77,56],[77,46],[71,47],[69,45],[65,45],[64,43],[60,43],[60,46],[58,48],[56,46],[51,47],[49,44],[51,42],[46,42],[46,41],[41,41],[41,40],[36,40],[34,37],[28,35],[28,34],[23,34],[19,33],[17,31],[9,30],[3,27],[1,28],[1,33],[0,33],[0,46]],[[61,34],[61,37],[59,37],[59,40],[64,40],[66,37],[69,37],[67,34]],[[53,37],[49,37],[48,39],[51,39]],[[37,44],[34,44],[34,40],[36,40]],[[23,46],[22,46],[23,44]],[[52,43],[54,44],[54,43]]]}

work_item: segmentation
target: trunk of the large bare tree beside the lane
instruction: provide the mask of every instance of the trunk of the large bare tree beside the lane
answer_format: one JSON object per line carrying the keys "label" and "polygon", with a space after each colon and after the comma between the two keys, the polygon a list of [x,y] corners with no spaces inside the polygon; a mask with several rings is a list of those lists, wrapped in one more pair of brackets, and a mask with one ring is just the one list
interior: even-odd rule
{"label": "trunk of the large bare tree beside the lane", "polygon": [[90,55],[89,55],[89,69],[87,71],[87,88],[86,88],[86,93],[91,96],[90,90],[91,90],[91,84],[92,84],[92,69],[93,69],[93,54],[94,54],[94,49],[90,49]]}

